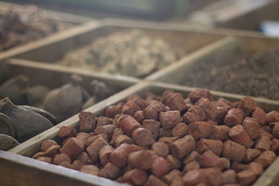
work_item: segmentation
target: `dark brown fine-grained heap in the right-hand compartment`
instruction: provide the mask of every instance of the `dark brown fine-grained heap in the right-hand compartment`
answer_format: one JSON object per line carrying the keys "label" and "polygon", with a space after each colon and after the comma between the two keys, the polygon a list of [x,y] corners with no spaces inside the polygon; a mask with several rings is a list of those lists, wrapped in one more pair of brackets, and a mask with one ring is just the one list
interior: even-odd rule
{"label": "dark brown fine-grained heap in the right-hand compartment", "polygon": [[279,100],[279,50],[215,56],[195,65],[182,84]]}

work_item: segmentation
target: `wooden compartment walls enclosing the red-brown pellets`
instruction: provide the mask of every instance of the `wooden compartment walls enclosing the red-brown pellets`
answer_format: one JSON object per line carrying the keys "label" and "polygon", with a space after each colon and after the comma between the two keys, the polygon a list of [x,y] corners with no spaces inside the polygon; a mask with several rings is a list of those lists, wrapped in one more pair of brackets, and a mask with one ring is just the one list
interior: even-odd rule
{"label": "wooden compartment walls enclosing the red-brown pellets", "polygon": [[[153,93],[161,94],[166,89],[172,89],[174,91],[179,91],[183,95],[187,96],[188,93],[194,90],[194,88],[189,88],[186,86],[179,86],[179,85],[170,85],[170,84],[162,84],[162,83],[155,83],[155,82],[140,82],[138,84],[135,84],[134,86],[130,86],[130,88],[127,88],[124,91],[121,91],[119,93],[116,93],[112,97],[108,98],[107,100],[104,100],[103,102],[99,102],[98,104],[94,105],[93,107],[90,107],[89,109],[86,109],[86,111],[91,111],[93,113],[98,114],[98,116],[103,116],[105,109],[112,105],[116,104],[117,102],[121,100],[125,100],[128,95],[138,94],[144,96],[147,92],[151,91]],[[218,91],[212,91],[213,98],[226,98],[228,100],[239,100],[243,98],[241,95],[232,95],[227,93],[221,93]],[[269,102],[265,102],[264,100],[257,100],[257,104],[259,107],[262,107],[263,109],[266,109],[266,111],[271,111],[272,109],[279,109],[278,102],[274,102],[273,104],[269,104]],[[57,132],[59,130],[59,127],[62,125],[67,126],[73,126],[77,127],[79,118],[77,115],[69,118],[67,121],[64,121],[63,123],[60,123],[59,125],[56,125],[55,127],[52,127],[50,130],[47,130],[36,137],[33,137],[32,139],[29,139],[28,141],[25,141],[24,143],[20,144],[19,146],[16,146],[15,148],[12,148],[8,151],[8,153],[4,153],[3,151],[0,151],[0,161],[5,162],[4,164],[0,164],[0,168],[3,167],[6,168],[7,164],[10,164],[11,161],[15,161],[15,166],[20,167],[20,169],[31,169],[33,171],[38,170],[38,176],[41,176],[44,172],[50,172],[50,175],[54,174],[53,178],[54,180],[61,181],[63,178],[69,179],[73,173],[75,173],[75,176],[71,177],[74,181],[77,181],[77,183],[80,184],[91,184],[91,185],[104,185],[107,179],[105,178],[98,178],[96,176],[89,176],[85,175],[82,172],[79,171],[73,171],[71,169],[66,169],[63,167],[57,167],[52,164],[46,164],[45,162],[39,162],[37,160],[32,160],[29,157],[22,157],[20,155],[24,156],[31,156],[34,153],[38,152],[38,149],[40,148],[40,143],[44,141],[45,139],[57,139]],[[11,153],[11,154],[10,154]],[[15,155],[15,154],[17,155]],[[8,157],[8,155],[10,157]],[[277,166],[279,164],[279,158],[273,162],[271,166],[269,166],[268,169],[262,174],[262,176],[257,180],[257,182],[254,184],[255,186],[265,185],[265,186],[271,186],[276,185],[279,181],[279,170],[277,169]],[[25,171],[22,171],[21,176],[23,176],[25,179],[22,180],[22,183],[29,183],[31,179],[28,178],[28,173]],[[6,172],[3,172],[2,176],[6,176]],[[87,176],[87,177],[85,177]],[[8,177],[9,178],[9,177]],[[47,177],[45,177],[47,178]],[[88,180],[84,178],[90,178]],[[88,183],[89,182],[89,183]],[[118,185],[119,183],[112,183],[112,185]],[[46,184],[49,185],[49,184]]]}

